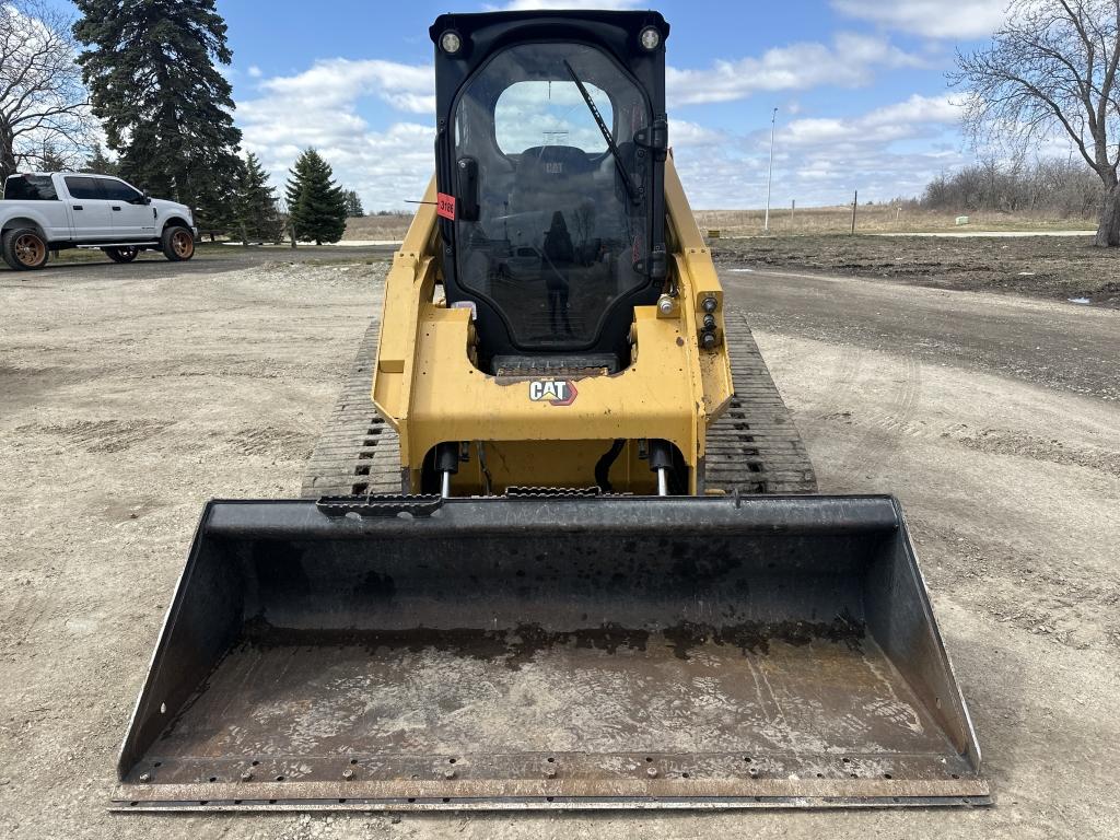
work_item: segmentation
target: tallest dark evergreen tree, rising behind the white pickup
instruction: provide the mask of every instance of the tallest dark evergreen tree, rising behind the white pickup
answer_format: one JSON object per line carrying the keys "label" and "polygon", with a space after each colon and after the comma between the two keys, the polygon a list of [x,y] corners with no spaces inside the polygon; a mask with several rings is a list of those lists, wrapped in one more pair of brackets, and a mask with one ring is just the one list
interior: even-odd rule
{"label": "tallest dark evergreen tree, rising behind the white pickup", "polygon": [[195,209],[213,237],[233,222],[227,202],[240,168],[226,26],[215,0],[75,0],[74,35],[93,112],[119,174]]}

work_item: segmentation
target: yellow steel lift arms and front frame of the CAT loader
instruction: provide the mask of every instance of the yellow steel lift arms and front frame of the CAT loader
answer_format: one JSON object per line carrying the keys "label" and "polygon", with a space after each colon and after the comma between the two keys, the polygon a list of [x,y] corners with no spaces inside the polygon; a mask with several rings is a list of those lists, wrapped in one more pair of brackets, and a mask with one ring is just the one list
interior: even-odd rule
{"label": "yellow steel lift arms and front frame of the CAT loader", "polygon": [[[474,495],[510,486],[591,486],[596,461],[623,439],[610,470],[614,489],[652,493],[655,477],[638,458],[638,441],[663,438],[684,457],[690,493],[702,493],[707,430],[731,399],[731,368],[722,342],[711,351],[699,346],[708,298],[718,301],[722,336],[724,292],[672,157],[665,206],[676,306],[669,315],[655,306],[634,308],[631,365],[614,375],[530,380],[479,371],[470,310],[435,298],[441,273],[435,200],[433,179],[385,281],[373,379],[374,404],[400,436],[412,492],[419,492],[424,457],[441,442],[469,441],[469,460],[451,489]],[[567,383],[575,386],[570,404],[548,399],[553,379],[566,383],[553,389],[561,396],[569,396]]]}

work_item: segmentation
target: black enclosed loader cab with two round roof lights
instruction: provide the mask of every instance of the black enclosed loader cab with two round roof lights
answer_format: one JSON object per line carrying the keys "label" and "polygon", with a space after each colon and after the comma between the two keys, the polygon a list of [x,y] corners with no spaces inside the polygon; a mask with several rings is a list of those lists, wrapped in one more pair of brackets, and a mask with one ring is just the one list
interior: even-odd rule
{"label": "black enclosed loader cab with two round roof lights", "polygon": [[[445,15],[431,35],[444,282],[475,310],[479,368],[629,366],[634,307],[666,273],[669,26]],[[526,252],[535,271],[503,271]]]}

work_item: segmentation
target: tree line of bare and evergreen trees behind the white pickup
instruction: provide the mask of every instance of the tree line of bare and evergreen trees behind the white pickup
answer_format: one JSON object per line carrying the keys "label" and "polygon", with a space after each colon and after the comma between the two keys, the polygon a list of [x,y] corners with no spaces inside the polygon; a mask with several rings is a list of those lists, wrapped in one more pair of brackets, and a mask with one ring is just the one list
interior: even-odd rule
{"label": "tree line of bare and evergreen trees behind the white pickup", "polygon": [[[215,0],[0,2],[0,183],[19,167],[118,175],[190,206],[203,233],[335,242],[364,215],[314,149],[290,170],[286,206],[242,155],[233,60]],[[99,128],[113,157],[93,140]]]}

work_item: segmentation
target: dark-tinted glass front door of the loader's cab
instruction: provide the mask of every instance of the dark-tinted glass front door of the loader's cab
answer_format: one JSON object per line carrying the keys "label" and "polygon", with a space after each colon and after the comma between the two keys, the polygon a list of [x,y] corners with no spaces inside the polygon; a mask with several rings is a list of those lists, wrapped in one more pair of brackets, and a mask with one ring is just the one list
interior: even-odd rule
{"label": "dark-tinted glass front door of the loader's cab", "polygon": [[517,45],[465,85],[456,156],[477,164],[479,213],[456,222],[458,281],[493,301],[520,346],[587,346],[612,304],[648,283],[635,269],[648,209],[624,180],[644,183],[633,140],[648,122],[638,86],[594,47]]}

